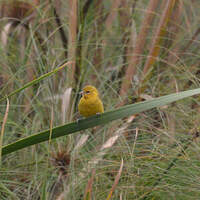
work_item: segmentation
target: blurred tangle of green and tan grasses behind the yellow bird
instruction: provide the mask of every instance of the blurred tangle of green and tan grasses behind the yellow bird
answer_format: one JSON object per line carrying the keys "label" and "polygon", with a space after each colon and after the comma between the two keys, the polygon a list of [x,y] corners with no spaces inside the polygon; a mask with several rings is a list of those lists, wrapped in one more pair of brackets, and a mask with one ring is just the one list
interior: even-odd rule
{"label": "blurred tangle of green and tan grasses behind the yellow bird", "polygon": [[[9,97],[3,145],[76,121],[86,84],[98,88],[106,111],[199,88],[198,0],[151,2],[77,1],[76,25],[69,1],[41,0],[30,28],[1,41],[0,97],[53,73]],[[1,18],[2,30],[7,22]],[[75,65],[56,71],[69,61]],[[6,99],[0,103],[2,129]],[[0,199],[102,200],[113,192],[110,199],[197,200],[199,150],[193,96],[2,156]]]}

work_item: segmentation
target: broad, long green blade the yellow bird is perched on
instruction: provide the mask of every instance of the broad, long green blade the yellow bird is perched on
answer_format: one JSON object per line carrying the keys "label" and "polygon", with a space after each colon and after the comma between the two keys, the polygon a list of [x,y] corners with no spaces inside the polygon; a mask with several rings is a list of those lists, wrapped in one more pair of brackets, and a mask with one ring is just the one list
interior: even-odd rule
{"label": "broad, long green blade the yellow bird is perched on", "polygon": [[[95,115],[83,120],[80,120],[78,123],[73,122],[63,126],[55,127],[52,129],[51,139],[69,135],[75,133],[80,130],[85,130],[88,128],[92,128],[97,125],[107,124],[113,120],[121,119],[124,117],[128,117],[130,115],[140,113],[155,107],[160,107],[174,101],[190,97],[192,95],[200,94],[200,88],[194,90],[188,90],[180,93],[174,93],[162,97],[158,97],[149,101],[144,101],[136,104],[131,104],[127,106],[123,106],[121,108],[105,112],[101,115]],[[40,142],[49,140],[50,130],[42,131],[40,133],[33,134],[29,137],[20,139],[14,143],[3,146],[2,155],[6,155],[17,151],[19,149],[38,144]]]}

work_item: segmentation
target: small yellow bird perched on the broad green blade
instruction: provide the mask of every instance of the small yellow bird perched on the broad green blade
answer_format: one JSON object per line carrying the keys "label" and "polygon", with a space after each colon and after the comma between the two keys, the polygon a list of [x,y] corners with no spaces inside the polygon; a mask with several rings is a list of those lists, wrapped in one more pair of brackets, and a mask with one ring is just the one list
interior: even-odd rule
{"label": "small yellow bird perched on the broad green blade", "polygon": [[85,86],[81,93],[82,97],[78,104],[78,110],[83,117],[104,112],[103,103],[99,98],[98,90],[94,86]]}

